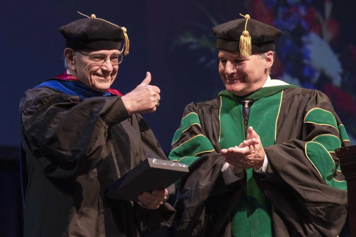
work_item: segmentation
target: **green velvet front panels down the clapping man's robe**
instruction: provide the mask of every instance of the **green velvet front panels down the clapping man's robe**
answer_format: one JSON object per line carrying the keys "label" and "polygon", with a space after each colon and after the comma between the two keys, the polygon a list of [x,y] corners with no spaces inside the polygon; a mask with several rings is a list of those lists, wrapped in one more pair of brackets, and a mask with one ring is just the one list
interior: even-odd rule
{"label": "green velvet front panels down the clapping man's robe", "polygon": [[[263,147],[273,145],[275,142],[281,96],[282,92],[278,92],[256,100],[251,106],[247,126],[252,126],[257,132]],[[234,147],[245,140],[242,104],[230,96],[221,96],[220,127],[219,142],[222,149]],[[252,168],[247,169],[246,172],[247,184],[241,201],[234,209],[232,236],[273,236],[271,203],[257,187],[256,181],[252,177]]]}

